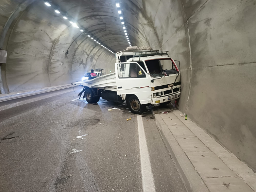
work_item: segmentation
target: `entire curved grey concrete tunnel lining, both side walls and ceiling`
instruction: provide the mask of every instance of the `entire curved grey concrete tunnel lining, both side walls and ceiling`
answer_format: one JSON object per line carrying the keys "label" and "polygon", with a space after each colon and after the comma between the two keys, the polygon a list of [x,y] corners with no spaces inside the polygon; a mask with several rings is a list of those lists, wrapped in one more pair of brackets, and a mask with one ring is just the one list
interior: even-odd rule
{"label": "entire curved grey concrete tunnel lining, both side walls and ceiling", "polygon": [[[114,0],[54,2],[116,52],[127,47]],[[15,6],[10,6],[10,10]],[[122,8],[134,46],[168,50],[172,58],[180,60],[179,109],[256,170],[256,120],[253,118],[256,109],[256,2],[125,0]],[[28,27],[24,28],[25,25]],[[6,68],[2,68],[5,68],[3,76],[6,71],[5,88],[9,87],[10,91],[69,83],[71,78],[82,75],[84,69],[95,64],[114,71],[113,55],[93,45],[85,34],[65,25],[42,1],[33,3],[11,28],[10,38],[6,38],[9,41],[5,43],[8,60]],[[22,47],[24,39],[30,42],[28,47]],[[70,53],[65,57],[69,46]],[[33,56],[31,53],[40,55],[33,58],[41,65],[28,59]],[[33,69],[41,75],[42,81],[25,73]],[[17,77],[20,83],[17,85],[14,76],[20,73],[23,76]]]}

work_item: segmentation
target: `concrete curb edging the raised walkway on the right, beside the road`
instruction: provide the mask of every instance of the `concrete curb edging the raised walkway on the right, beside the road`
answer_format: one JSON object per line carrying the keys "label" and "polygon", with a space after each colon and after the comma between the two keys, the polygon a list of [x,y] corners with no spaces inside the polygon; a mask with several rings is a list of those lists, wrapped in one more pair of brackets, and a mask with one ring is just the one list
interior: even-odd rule
{"label": "concrete curb edging the raised walkway on the right, beside the road", "polygon": [[169,128],[160,117],[159,114],[154,114],[152,107],[150,110],[155,118],[157,127],[159,128],[163,139],[166,143],[167,148],[169,149],[172,158],[177,166],[178,171],[180,172],[185,186],[189,192],[207,192],[209,191],[206,185],[204,184],[201,177],[198,175],[197,171],[191,164],[190,160],[183,152],[182,148],[170,132]]}

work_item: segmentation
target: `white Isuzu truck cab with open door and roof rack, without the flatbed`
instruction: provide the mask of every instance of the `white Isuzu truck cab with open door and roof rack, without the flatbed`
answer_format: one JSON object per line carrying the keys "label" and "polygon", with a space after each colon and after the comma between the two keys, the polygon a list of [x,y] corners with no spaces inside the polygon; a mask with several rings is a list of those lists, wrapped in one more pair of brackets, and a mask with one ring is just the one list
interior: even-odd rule
{"label": "white Isuzu truck cab with open door and roof rack, without the flatbed", "polygon": [[123,99],[136,95],[134,107],[180,98],[180,71],[168,51],[121,51],[116,60],[117,92]]}

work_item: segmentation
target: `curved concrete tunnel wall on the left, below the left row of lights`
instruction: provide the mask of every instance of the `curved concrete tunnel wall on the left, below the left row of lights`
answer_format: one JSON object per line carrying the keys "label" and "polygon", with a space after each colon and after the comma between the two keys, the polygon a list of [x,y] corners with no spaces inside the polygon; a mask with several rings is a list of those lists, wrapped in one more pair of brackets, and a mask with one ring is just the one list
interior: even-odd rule
{"label": "curved concrete tunnel wall on the left, below the left row of lights", "polygon": [[[4,16],[8,18],[7,14]],[[44,1],[33,2],[20,13],[3,47],[8,51],[6,65],[2,66],[6,92],[69,84],[96,68],[106,68],[106,73],[114,71],[114,54],[91,41],[80,29],[66,24]],[[98,61],[103,55],[105,59]]]}

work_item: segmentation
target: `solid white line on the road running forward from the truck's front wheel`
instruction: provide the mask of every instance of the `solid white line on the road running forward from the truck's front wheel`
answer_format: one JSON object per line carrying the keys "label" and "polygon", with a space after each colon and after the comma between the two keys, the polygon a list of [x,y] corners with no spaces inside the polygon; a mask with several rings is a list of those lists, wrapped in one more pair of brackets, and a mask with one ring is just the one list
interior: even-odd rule
{"label": "solid white line on the road running forward from the truck's front wheel", "polygon": [[149,160],[149,152],[144,132],[144,126],[141,115],[137,116],[139,131],[139,150],[140,150],[140,167],[142,177],[142,187],[144,192],[155,192],[154,178]]}

